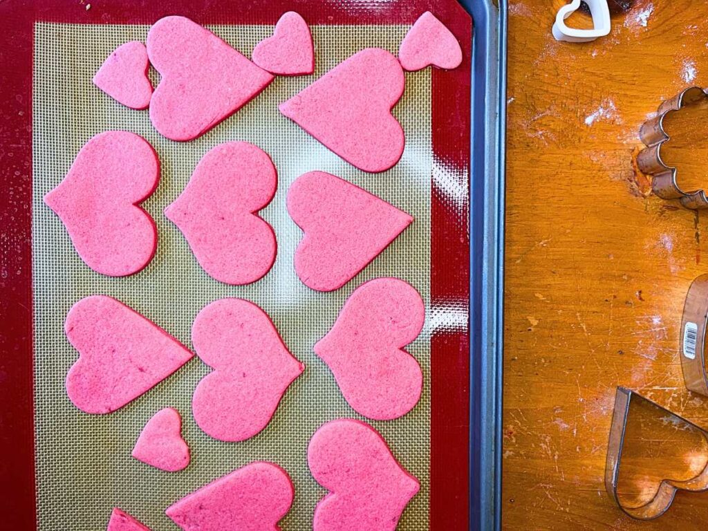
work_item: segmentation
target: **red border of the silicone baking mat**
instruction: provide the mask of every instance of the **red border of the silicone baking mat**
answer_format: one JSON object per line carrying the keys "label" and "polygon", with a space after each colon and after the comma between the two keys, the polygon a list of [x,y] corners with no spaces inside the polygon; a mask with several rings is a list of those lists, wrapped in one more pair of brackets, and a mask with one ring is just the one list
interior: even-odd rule
{"label": "red border of the silicone baking mat", "polygon": [[[88,10],[86,7],[91,4]],[[154,23],[180,14],[201,24],[273,24],[285,11],[316,24],[412,24],[431,11],[455,33],[464,62],[433,69],[436,166],[465,183],[470,157],[472,20],[455,0],[6,0],[0,1],[0,514],[36,522],[31,273],[32,66],[35,21]],[[430,304],[469,306],[469,200],[457,204],[431,176]],[[469,328],[431,342],[430,529],[469,529]]]}

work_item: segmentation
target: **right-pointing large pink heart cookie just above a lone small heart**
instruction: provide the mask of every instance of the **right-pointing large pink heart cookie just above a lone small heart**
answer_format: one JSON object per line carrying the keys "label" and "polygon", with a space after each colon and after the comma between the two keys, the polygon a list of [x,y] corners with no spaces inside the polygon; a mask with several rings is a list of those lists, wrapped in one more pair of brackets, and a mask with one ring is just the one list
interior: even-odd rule
{"label": "right-pointing large pink heart cookie just above a lone small heart", "polygon": [[152,321],[105,295],[76,302],[64,329],[79,350],[67,374],[67,394],[86,413],[122,408],[193,356]]}

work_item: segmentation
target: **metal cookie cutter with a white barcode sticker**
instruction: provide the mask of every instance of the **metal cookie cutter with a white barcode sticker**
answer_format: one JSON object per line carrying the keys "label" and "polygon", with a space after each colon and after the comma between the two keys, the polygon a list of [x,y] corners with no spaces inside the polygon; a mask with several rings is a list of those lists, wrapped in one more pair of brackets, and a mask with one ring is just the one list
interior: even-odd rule
{"label": "metal cookie cutter with a white barcode sticker", "polygon": [[708,396],[705,336],[708,324],[708,274],[697,276],[686,294],[681,318],[680,358],[686,387]]}

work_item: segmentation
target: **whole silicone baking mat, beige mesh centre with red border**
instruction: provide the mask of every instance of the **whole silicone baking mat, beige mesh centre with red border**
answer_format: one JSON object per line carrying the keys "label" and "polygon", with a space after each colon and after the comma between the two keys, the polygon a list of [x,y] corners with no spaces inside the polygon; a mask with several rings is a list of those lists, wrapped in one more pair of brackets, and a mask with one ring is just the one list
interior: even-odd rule
{"label": "whole silicone baking mat, beige mesh centre with red border", "polygon": [[[120,506],[154,530],[175,530],[164,508],[202,484],[253,459],[271,459],[292,476],[295,503],[287,530],[311,527],[324,489],[309,475],[305,452],[314,430],[338,416],[357,417],[331,373],[312,353],[338,309],[365,280],[395,275],[426,300],[426,327],[410,351],[423,367],[420,404],[398,421],[372,423],[396,458],[421,481],[399,529],[464,530],[469,525],[469,167],[472,21],[455,1],[84,0],[0,4],[3,113],[0,157],[12,186],[0,201],[4,222],[0,342],[0,463],[4,525],[13,530],[105,529]],[[317,72],[278,78],[258,98],[193,142],[158,135],[147,112],[122,108],[91,84],[108,52],[144,39],[149,25],[179,14],[207,25],[249,55],[285,11],[295,9],[313,29]],[[381,46],[396,52],[407,28],[433,11],[457,36],[464,62],[450,71],[406,74],[406,93],[394,113],[407,135],[394,169],[367,174],[343,163],[279,115],[277,103],[353,52]],[[153,81],[157,76],[152,73]],[[154,217],[154,260],[128,278],[103,277],[76,256],[61,222],[42,197],[69,169],[81,146],[98,132],[126,129],[158,152],[161,181],[144,207]],[[209,278],[162,210],[183,189],[198,160],[215,145],[247,140],[273,157],[279,188],[263,210],[278,235],[278,259],[250,286]],[[372,265],[341,290],[308,290],[292,270],[301,234],[285,212],[287,186],[309,170],[335,173],[416,217]],[[31,255],[30,255],[31,249]],[[89,416],[72,406],[64,377],[77,353],[62,324],[76,300],[103,293],[122,300],[191,346],[195,314],[226,296],[251,299],[275,321],[290,350],[307,365],[285,394],[270,425],[240,443],[213,440],[195,426],[190,399],[208,368],[198,358],[124,409]],[[9,310],[9,311],[8,311]],[[151,469],[130,457],[144,423],[162,406],[183,415],[193,461],[184,472]]]}

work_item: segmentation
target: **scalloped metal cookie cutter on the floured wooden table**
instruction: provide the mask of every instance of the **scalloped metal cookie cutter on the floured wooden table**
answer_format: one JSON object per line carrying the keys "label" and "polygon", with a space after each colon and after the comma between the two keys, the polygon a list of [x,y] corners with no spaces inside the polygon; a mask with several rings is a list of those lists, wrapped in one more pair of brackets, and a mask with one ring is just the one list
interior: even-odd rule
{"label": "scalloped metal cookie cutter on the floured wooden table", "polygon": [[708,208],[708,197],[704,190],[686,192],[680,188],[676,181],[675,167],[668,166],[661,158],[661,146],[670,139],[664,130],[663,120],[668,113],[704,99],[708,99],[708,94],[700,86],[690,86],[661,103],[656,116],[646,120],[639,130],[639,137],[646,148],[636,157],[639,169],[652,176],[653,193],[662,199],[678,199],[681,205],[694,210]]}

